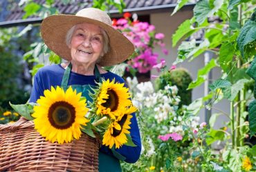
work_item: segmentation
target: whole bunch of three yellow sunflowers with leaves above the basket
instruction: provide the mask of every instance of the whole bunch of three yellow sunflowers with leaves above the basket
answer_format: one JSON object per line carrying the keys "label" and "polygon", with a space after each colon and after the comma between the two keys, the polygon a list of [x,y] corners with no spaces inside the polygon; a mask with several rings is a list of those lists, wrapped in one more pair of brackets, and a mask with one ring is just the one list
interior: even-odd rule
{"label": "whole bunch of three yellow sunflowers with leaves above the basket", "polygon": [[59,86],[51,87],[37,100],[29,118],[33,119],[35,129],[50,142],[62,144],[78,140],[82,132],[95,137],[94,129],[102,136],[102,144],[110,149],[118,149],[122,144],[134,146],[129,125],[131,114],[137,109],[132,106],[124,83],[103,80],[91,87],[89,96],[92,100],[87,102],[82,93],[72,87],[66,91]]}

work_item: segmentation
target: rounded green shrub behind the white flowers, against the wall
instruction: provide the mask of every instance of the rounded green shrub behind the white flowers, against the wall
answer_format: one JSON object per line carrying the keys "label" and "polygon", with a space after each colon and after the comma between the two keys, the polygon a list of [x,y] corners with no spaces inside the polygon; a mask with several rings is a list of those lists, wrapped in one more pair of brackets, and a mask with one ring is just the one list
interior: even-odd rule
{"label": "rounded green shrub behind the white flowers, against the wall", "polygon": [[155,81],[156,90],[164,89],[165,85],[176,85],[181,96],[180,105],[190,105],[192,101],[192,89],[187,90],[188,85],[192,82],[192,78],[188,71],[184,68],[172,69],[165,71]]}

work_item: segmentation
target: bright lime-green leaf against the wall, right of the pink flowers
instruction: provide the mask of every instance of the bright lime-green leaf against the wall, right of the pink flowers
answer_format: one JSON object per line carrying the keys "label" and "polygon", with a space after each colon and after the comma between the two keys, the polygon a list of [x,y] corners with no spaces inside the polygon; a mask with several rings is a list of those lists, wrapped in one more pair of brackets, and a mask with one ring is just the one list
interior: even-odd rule
{"label": "bright lime-green leaf against the wall, right of the pink flowers", "polygon": [[179,25],[179,28],[172,35],[172,47],[175,47],[183,36],[190,36],[192,33],[196,32],[196,30],[192,28],[193,22],[194,18],[185,20],[181,25]]}

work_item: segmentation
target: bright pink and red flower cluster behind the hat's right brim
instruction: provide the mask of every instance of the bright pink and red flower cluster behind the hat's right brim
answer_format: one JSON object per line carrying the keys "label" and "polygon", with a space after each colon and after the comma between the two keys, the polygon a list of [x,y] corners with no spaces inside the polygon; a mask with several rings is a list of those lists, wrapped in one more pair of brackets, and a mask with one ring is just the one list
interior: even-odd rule
{"label": "bright pink and red flower cluster behind the hat's right brim", "polygon": [[160,45],[164,54],[168,54],[165,49],[165,43],[163,39],[165,35],[162,33],[156,33],[154,25],[150,25],[147,22],[141,22],[137,19],[130,20],[131,14],[125,12],[123,18],[113,19],[113,28],[120,30],[136,48],[136,57],[131,58],[128,64],[137,69],[140,73],[146,73],[157,64],[158,54],[153,52],[155,45]]}

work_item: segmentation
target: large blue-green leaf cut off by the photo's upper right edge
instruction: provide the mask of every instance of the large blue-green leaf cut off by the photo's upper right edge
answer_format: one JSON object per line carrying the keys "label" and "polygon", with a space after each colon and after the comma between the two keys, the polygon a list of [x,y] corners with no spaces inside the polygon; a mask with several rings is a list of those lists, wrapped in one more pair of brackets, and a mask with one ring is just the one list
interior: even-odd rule
{"label": "large blue-green leaf cut off by the photo's upper right edge", "polygon": [[255,17],[253,17],[255,14],[256,10],[251,17],[252,20],[246,21],[237,38],[239,51],[244,58],[247,58],[250,55],[255,55],[256,53],[256,21]]}

